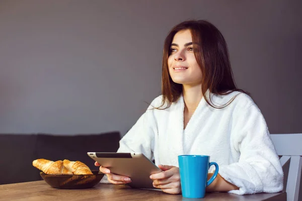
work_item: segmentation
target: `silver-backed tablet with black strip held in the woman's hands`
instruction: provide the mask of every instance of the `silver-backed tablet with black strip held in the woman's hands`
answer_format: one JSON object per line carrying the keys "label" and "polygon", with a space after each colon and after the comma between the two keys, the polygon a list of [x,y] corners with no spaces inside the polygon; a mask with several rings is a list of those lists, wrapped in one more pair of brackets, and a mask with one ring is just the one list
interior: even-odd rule
{"label": "silver-backed tablet with black strip held in the woman's hands", "polygon": [[131,179],[127,185],[134,188],[155,188],[150,175],[162,170],[142,153],[88,152],[89,157],[110,169],[113,174]]}

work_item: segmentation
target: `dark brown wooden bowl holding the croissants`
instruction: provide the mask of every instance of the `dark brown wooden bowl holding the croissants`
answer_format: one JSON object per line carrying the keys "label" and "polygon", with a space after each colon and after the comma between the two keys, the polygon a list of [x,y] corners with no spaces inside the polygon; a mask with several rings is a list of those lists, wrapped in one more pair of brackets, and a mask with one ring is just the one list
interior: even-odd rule
{"label": "dark brown wooden bowl holding the croissants", "polygon": [[93,174],[64,175],[64,174],[45,174],[40,172],[41,177],[54,188],[81,189],[91,188],[98,184],[104,176],[99,170],[92,170]]}

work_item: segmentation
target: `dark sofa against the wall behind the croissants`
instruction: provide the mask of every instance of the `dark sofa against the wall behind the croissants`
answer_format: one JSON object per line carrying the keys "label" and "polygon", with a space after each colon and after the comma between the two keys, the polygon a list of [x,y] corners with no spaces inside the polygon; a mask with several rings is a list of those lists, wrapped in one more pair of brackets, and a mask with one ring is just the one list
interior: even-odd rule
{"label": "dark sofa against the wall behind the croissants", "polygon": [[119,132],[85,135],[0,134],[0,184],[41,180],[32,161],[68,159],[98,169],[87,152],[116,152]]}

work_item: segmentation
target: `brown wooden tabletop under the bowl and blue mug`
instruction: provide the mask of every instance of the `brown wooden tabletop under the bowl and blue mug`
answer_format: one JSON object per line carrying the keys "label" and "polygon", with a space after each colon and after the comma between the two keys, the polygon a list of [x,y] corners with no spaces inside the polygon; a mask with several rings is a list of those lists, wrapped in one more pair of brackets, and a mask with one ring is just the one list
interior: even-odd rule
{"label": "brown wooden tabletop under the bowl and blue mug", "polygon": [[126,185],[98,184],[88,189],[57,189],[45,181],[0,185],[0,200],[286,200],[286,193],[236,195],[206,193],[201,199],[184,198],[160,190],[134,189]]}

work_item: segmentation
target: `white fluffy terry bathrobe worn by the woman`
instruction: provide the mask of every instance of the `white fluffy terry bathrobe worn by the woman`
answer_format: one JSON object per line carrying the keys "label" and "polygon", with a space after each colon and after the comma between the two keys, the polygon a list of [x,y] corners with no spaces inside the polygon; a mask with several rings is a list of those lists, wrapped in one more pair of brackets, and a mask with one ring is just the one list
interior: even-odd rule
{"label": "white fluffy terry bathrobe worn by the woman", "polygon": [[[208,93],[209,94],[209,93]],[[202,98],[184,129],[184,99],[181,96],[166,110],[159,107],[162,96],[121,139],[118,152],[141,152],[156,165],[178,167],[178,155],[209,155],[219,165],[219,174],[239,187],[235,194],[278,192],[283,189],[283,171],[266,122],[250,96],[241,92],[211,93],[210,107]],[[152,110],[153,109],[153,110]],[[209,172],[214,171],[211,166]]]}

